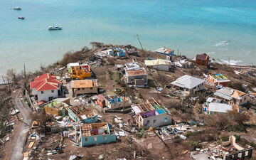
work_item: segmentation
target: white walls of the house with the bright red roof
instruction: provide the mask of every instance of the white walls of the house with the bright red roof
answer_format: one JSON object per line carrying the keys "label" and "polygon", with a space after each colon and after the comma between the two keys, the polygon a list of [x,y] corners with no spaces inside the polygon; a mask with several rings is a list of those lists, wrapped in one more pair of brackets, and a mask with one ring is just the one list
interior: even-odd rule
{"label": "white walls of the house with the bright red roof", "polygon": [[58,90],[53,90],[53,92],[52,92],[52,90],[44,90],[43,94],[42,94],[41,91],[36,91],[36,89],[33,88],[32,94],[38,96],[38,102],[40,102],[42,100],[48,102],[49,97],[53,97],[53,98],[58,97]]}

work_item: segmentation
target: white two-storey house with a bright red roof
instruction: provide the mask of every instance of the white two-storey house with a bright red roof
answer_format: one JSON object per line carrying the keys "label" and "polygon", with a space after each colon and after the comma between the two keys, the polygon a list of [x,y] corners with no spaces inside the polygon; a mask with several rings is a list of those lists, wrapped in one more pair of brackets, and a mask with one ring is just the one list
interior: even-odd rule
{"label": "white two-storey house with a bright red roof", "polygon": [[38,102],[51,101],[58,97],[61,92],[61,82],[56,79],[54,75],[45,73],[35,78],[33,82],[30,82],[32,95],[36,97]]}

